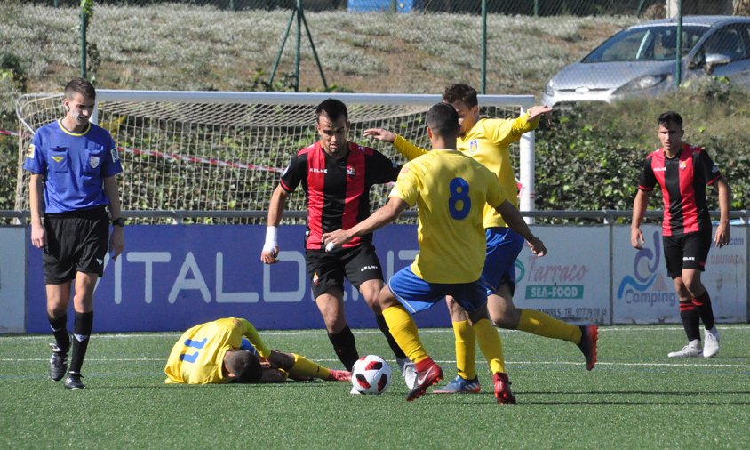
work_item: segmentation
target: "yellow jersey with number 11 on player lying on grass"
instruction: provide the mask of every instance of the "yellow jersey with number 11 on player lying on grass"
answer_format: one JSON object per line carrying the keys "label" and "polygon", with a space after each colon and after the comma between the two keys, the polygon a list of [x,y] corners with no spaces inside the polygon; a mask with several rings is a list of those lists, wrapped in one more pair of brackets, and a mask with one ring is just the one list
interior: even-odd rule
{"label": "yellow jersey with number 11 on player lying on grass", "polygon": [[250,340],[258,354],[267,358],[271,350],[260,339],[258,331],[243,318],[219,318],[182,333],[170,353],[164,374],[166,383],[208,384],[228,382],[224,377],[224,355],[238,350],[243,336]]}

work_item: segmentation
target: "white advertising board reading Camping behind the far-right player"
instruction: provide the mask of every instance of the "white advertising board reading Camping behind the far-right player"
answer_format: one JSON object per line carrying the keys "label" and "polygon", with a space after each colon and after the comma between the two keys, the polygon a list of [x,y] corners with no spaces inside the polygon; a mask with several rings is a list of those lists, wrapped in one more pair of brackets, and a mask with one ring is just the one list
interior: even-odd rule
{"label": "white advertising board reading Camping behind the far-right player", "polygon": [[[614,229],[613,321],[618,324],[682,323],[672,279],[666,274],[660,225],[641,227],[642,250],[630,245],[630,228]],[[732,227],[730,245],[712,246],[701,281],[717,322],[747,321],[747,229]]]}

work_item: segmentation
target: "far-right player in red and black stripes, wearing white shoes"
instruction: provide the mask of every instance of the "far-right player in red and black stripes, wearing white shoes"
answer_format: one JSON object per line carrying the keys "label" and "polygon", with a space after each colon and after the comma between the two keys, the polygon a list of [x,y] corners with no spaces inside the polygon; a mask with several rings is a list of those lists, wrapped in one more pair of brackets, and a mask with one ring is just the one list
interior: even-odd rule
{"label": "far-right player in red and black stripes, wearing white shoes", "polygon": [[[714,245],[730,242],[730,186],[714,165],[705,149],[682,141],[682,117],[667,111],[658,117],[658,139],[661,148],[646,157],[638,194],[633,205],[630,241],[635,248],[644,242],[641,221],[649,204],[651,191],[658,184],[664,200],[662,242],[666,271],[674,279],[680,301],[682,326],[688,345],[669,353],[670,358],[703,355],[713,357],[719,352],[719,333],[714,325],[714,311],[700,272],[706,269],[711,248],[711,217],[706,205],[706,184],[719,191],[721,217],[714,234]],[[706,328],[701,348],[700,321]]]}

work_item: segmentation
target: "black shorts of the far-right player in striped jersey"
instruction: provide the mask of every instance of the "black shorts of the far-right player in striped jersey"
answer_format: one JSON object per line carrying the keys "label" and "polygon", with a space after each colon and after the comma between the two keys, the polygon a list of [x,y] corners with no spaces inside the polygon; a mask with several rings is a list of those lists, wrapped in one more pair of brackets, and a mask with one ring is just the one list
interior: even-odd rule
{"label": "black shorts of the far-right player in striped jersey", "polygon": [[711,228],[706,227],[695,233],[679,236],[665,236],[664,261],[666,273],[672,279],[682,277],[682,269],[706,269],[708,250],[711,249]]}

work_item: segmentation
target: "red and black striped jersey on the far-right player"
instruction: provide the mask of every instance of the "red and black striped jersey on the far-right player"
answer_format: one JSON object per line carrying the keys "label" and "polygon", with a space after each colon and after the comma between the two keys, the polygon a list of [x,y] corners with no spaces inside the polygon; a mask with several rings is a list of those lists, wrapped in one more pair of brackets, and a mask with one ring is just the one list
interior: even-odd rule
{"label": "red and black striped jersey on the far-right player", "polygon": [[714,184],[722,173],[706,150],[682,142],[674,157],[658,149],[646,157],[638,188],[650,192],[657,183],[664,200],[664,236],[678,236],[711,227],[706,204],[706,184]]}

